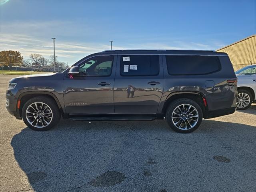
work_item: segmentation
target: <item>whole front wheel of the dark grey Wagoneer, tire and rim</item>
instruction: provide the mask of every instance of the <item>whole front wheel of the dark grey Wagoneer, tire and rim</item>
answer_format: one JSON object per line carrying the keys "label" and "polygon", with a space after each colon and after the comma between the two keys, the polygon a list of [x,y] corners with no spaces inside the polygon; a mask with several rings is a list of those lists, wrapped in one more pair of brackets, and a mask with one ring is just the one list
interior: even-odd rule
{"label": "whole front wheel of the dark grey Wagoneer, tire and rim", "polygon": [[22,119],[32,130],[46,131],[59,122],[60,110],[53,99],[39,96],[24,104]]}

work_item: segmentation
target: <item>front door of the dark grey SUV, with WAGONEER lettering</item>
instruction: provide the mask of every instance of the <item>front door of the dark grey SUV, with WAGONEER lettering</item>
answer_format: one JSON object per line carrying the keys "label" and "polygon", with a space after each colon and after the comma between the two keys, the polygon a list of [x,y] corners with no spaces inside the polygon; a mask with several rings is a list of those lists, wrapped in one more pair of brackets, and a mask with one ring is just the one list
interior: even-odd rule
{"label": "front door of the dark grey SUV, with WAGONEER lettering", "polygon": [[79,76],[63,81],[65,110],[68,114],[114,113],[114,55],[85,58],[79,66]]}

